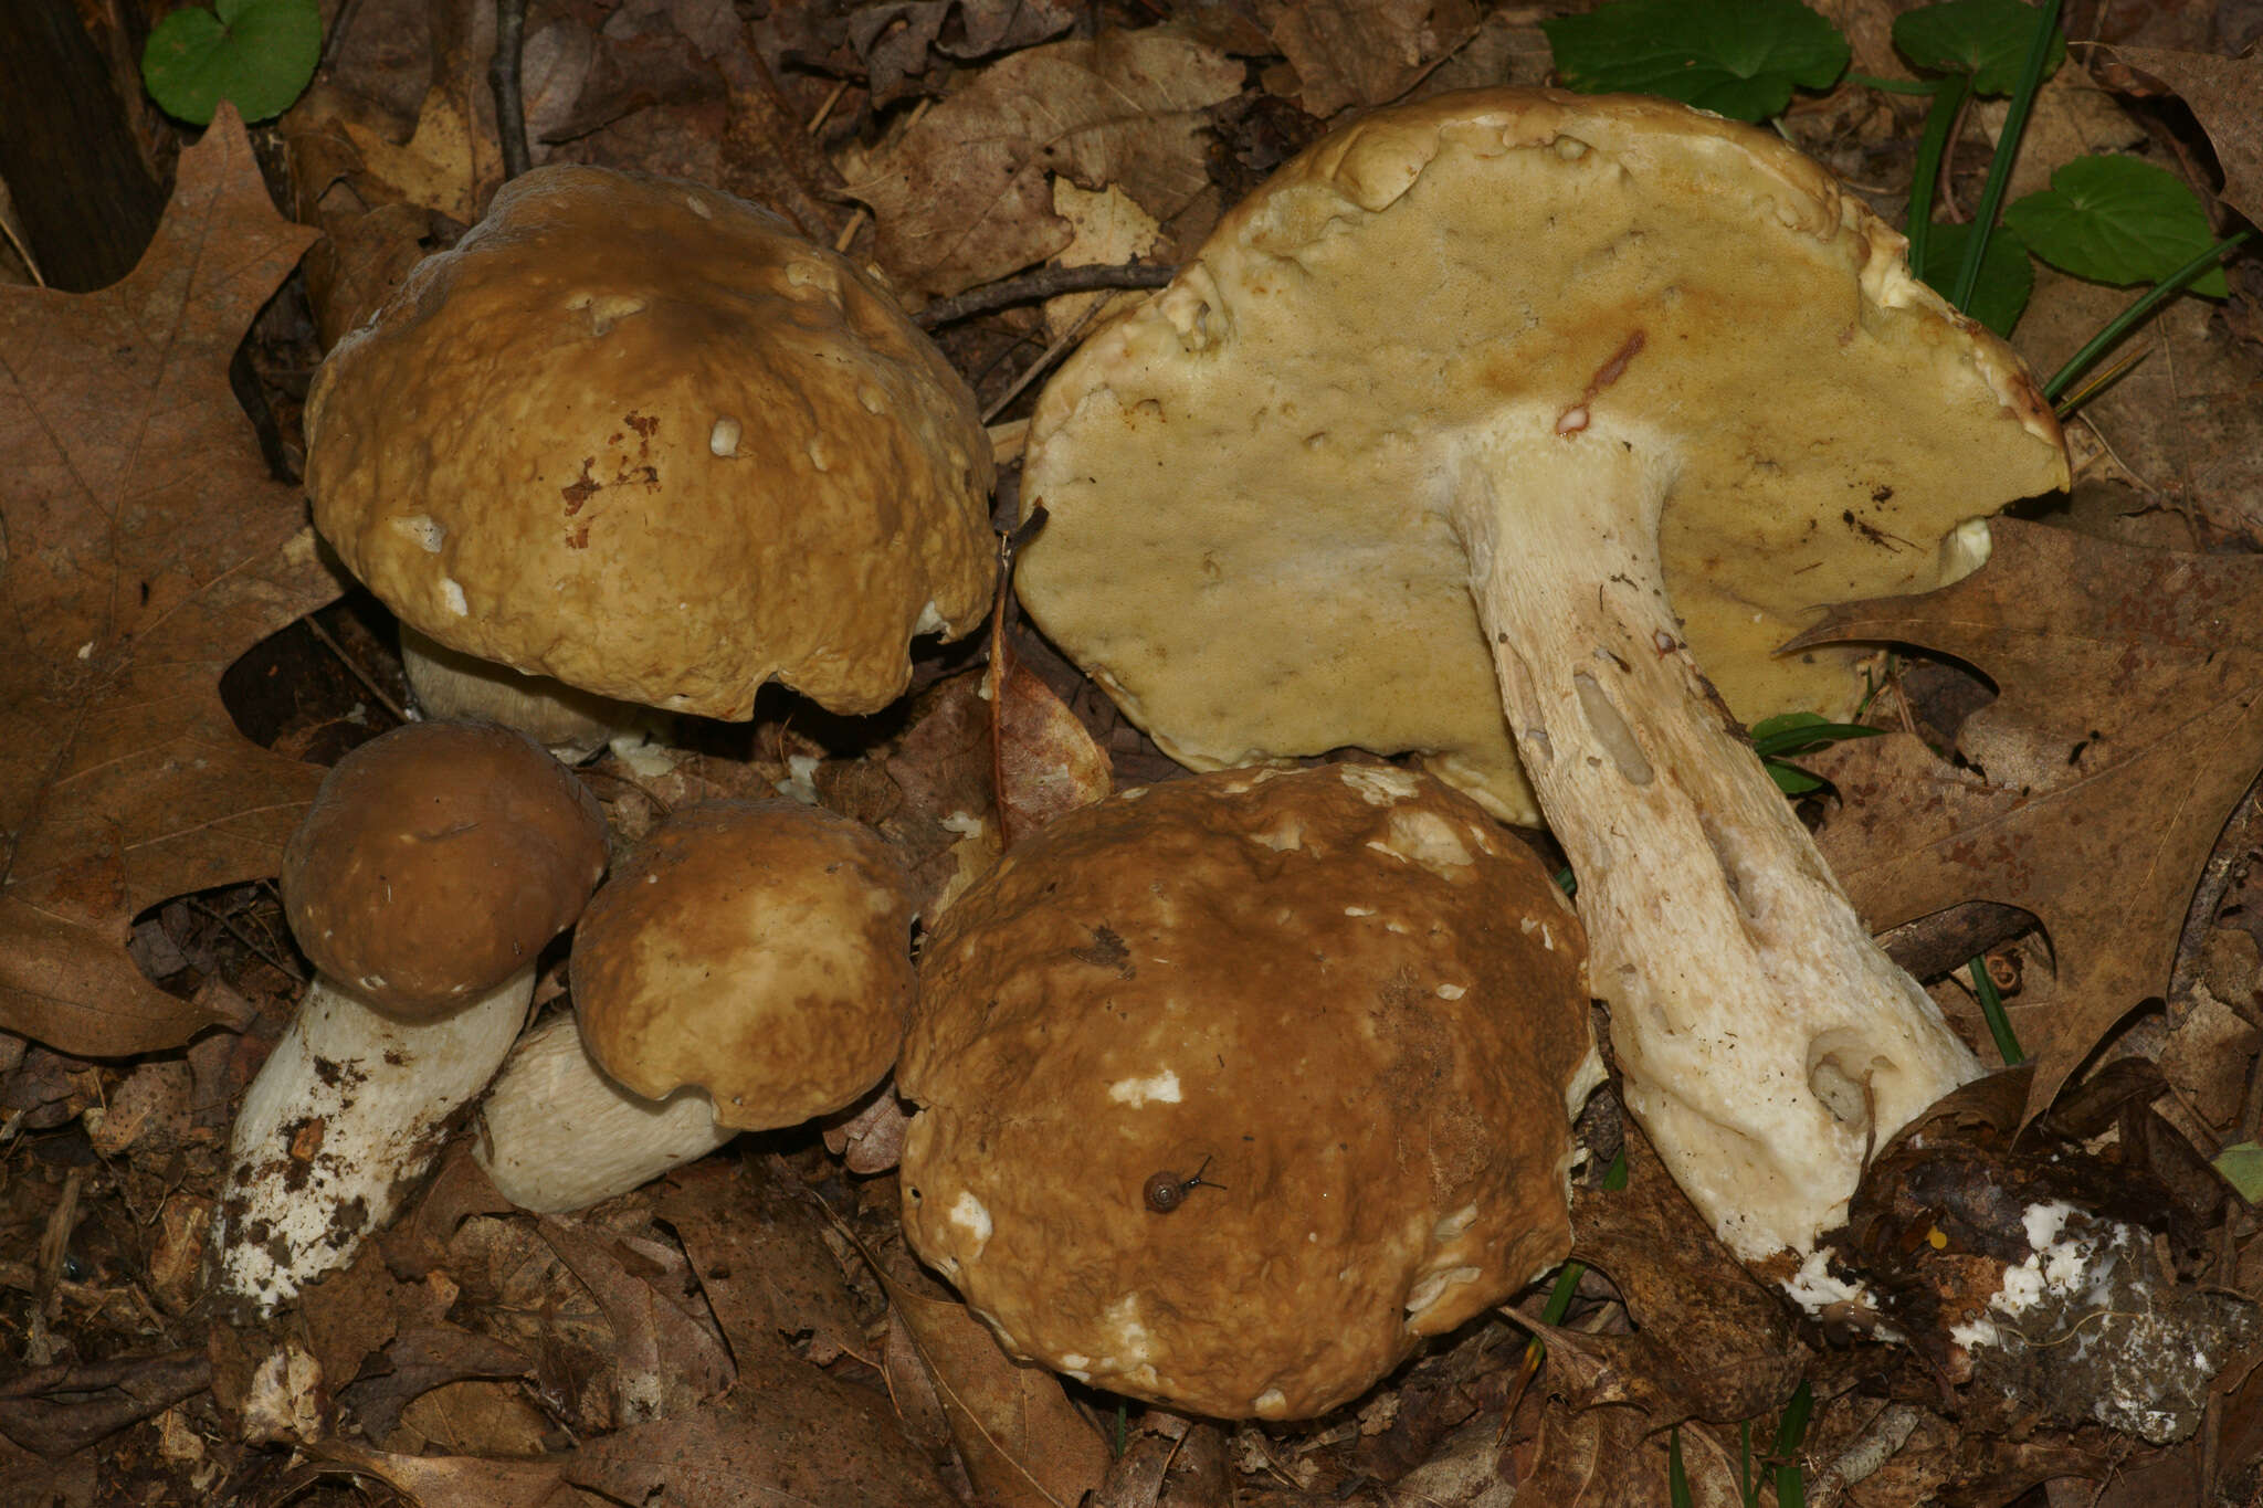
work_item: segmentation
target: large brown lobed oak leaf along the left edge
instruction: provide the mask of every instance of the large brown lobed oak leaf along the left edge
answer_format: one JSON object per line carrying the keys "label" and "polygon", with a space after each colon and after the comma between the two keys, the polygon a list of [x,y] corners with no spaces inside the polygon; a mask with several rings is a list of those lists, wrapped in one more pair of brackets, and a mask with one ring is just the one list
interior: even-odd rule
{"label": "large brown lobed oak leaf along the left edge", "polygon": [[122,283],[0,289],[0,1026],[61,1051],[210,1024],[134,968],[134,913],[274,875],[321,780],[220,703],[231,660],[337,597],[229,391],[310,240],[222,109]]}

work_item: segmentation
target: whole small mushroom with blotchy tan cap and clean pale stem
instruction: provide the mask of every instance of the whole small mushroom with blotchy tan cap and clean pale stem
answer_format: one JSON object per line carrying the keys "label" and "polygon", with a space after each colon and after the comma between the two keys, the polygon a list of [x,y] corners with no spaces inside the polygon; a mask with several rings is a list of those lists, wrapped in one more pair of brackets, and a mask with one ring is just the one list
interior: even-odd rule
{"label": "whole small mushroom with blotchy tan cap and clean pale stem", "polygon": [[579,1040],[520,1045],[482,1108],[475,1155],[527,1210],[582,1210],[874,1087],[914,995],[910,879],[833,812],[699,803],[597,891],[570,972]]}

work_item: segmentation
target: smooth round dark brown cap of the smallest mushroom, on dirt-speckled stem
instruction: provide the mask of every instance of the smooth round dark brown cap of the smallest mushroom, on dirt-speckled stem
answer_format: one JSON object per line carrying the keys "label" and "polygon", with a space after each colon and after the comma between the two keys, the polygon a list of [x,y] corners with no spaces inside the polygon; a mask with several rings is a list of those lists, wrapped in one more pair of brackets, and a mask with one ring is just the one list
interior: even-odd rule
{"label": "smooth round dark brown cap of the smallest mushroom, on dirt-speckled stem", "polygon": [[602,875],[604,814],[534,739],[407,723],[324,778],[283,911],[317,970],[421,1022],[532,965]]}

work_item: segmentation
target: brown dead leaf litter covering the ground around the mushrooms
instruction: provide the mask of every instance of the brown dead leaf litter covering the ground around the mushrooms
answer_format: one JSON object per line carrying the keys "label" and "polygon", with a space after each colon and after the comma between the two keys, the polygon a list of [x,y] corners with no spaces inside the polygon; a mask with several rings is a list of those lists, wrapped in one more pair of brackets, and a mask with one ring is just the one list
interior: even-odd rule
{"label": "brown dead leaf litter covering the ground around the mushrooms", "polygon": [[[299,217],[328,235],[308,265],[326,337],[459,233],[498,179],[484,20],[423,0],[369,9],[382,25],[349,29],[333,77],[265,138],[287,147]],[[1134,7],[1064,38],[1077,16],[1050,5],[772,7],[742,25],[702,0],[536,0],[527,113],[536,161],[715,174],[910,296],[941,296],[1061,253],[1177,255],[1310,140],[1315,115],[1532,81],[1548,66],[1537,23],[1584,9],[1306,0],[1154,25],[1154,7]],[[1853,38],[1856,68],[1903,75],[1885,43],[1899,7],[1817,9]],[[414,41],[373,45],[378,32]],[[2225,206],[2254,213],[2252,59],[2195,52],[2204,41],[2168,25],[2116,36],[2129,41],[2098,50],[2096,81],[2152,109],[2157,142],[2172,97],[2204,131],[2177,138],[2182,158],[2150,161],[2193,179],[2213,149]],[[2143,45],[2154,38],[2170,45]],[[1890,215],[1914,124],[1849,84],[1795,97],[1788,118],[1804,142],[1819,133],[1810,149],[1860,165],[1858,188]],[[1969,131],[1948,188],[1967,206],[1985,165]],[[1308,1503],[1389,1483],[1442,1503],[1503,1501],[1507,1483],[1525,1503],[1743,1503],[1779,1465],[1776,1415],[1799,1381],[1817,1402],[1790,1456],[1817,1501],[2014,1501],[2059,1476],[2127,1483],[2109,1503],[2161,1501],[2129,1497],[2139,1483],[2200,1490],[2197,1447],[1967,1427],[1908,1361],[1792,1327],[1652,1176],[1638,1137],[1625,1194],[1582,1182],[1591,1273],[1548,1327],[1537,1386],[1514,1390],[1525,1329],[1494,1318],[1310,1427],[1120,1409],[1014,1363],[894,1234],[901,1108],[885,1087],[824,1142],[742,1142],[573,1219],[511,1212],[453,1155],[378,1250],[308,1293],[287,1341],[206,1329],[192,1300],[215,1128],[260,1051],[258,1031],[235,1033],[272,1029],[294,988],[242,945],[272,904],[244,882],[274,873],[319,778],[235,730],[222,671],[337,592],[296,488],[269,477],[226,384],[251,314],[315,240],[263,192],[224,122],[183,151],[134,278],[84,298],[0,289],[0,439],[32,457],[0,482],[16,635],[0,669],[0,1026],[36,1042],[0,1054],[0,1207],[20,1237],[0,1253],[32,1255],[0,1259],[0,1286],[23,1338],[11,1352],[41,1361],[45,1347],[50,1363],[0,1384],[0,1497],[91,1501],[100,1476],[143,1497],[260,1503],[349,1501],[355,1481],[416,1503],[659,1490],[692,1503],[1073,1503],[1086,1490],[1122,1506]],[[1976,898],[2041,918],[2048,952],[2030,950],[2012,995],[2039,1058],[2030,1108],[2057,1083],[2075,1085],[2059,1115],[2105,1092],[2084,1067],[2102,1040],[2152,1072],[2123,1074],[2123,1099],[2084,1135],[2204,1205],[2218,1280],[2252,1291],[2263,1243],[2245,1205],[2184,1194],[2213,1189],[2200,1153],[2254,1139],[2263,1115],[2249,1087],[2263,922],[2243,913],[2263,904],[2247,900],[2247,846],[2263,839],[2236,821],[2231,850],[2218,846],[2263,764],[2245,554],[2263,506],[2247,470],[2263,452],[2249,443],[2256,359],[2227,337],[2258,328],[2256,287],[2252,267],[2231,271],[2220,314],[2179,301],[2134,337],[2152,357],[2082,436],[2127,509],[2186,520],[2184,543],[2209,554],[2014,522],[1982,574],[1842,608],[1817,633],[1953,656],[1998,694],[1935,748],[1901,733],[1804,764],[1835,785],[1822,839],[1874,925]],[[2046,269],[2021,341],[2048,369],[2123,301]],[[948,330],[946,350],[993,398],[1057,335],[1007,312]],[[604,757],[591,787],[634,834],[679,800],[799,780],[903,846],[921,893],[946,904],[1061,803],[1168,773],[1025,626],[998,633],[991,653],[923,667],[901,717],[840,726],[781,699],[751,728],[702,735],[665,778]],[[367,633],[344,642],[389,653]],[[344,742],[378,730],[349,703],[328,717]],[[2220,904],[2188,916],[2195,879],[2218,870]],[[177,900],[199,895],[201,913]],[[242,938],[229,945],[224,927]],[[2191,979],[2172,988],[2177,970]],[[2159,1026],[2143,1013],[2132,1026],[2163,993]],[[867,1268],[819,1201],[889,1271]],[[1537,1300],[1523,1309],[1537,1325]],[[283,1354],[296,1370],[263,1375]],[[2215,1409],[2229,1492],[2263,1451],[2263,1388],[2227,1370]],[[253,1415],[283,1445],[251,1442]]]}

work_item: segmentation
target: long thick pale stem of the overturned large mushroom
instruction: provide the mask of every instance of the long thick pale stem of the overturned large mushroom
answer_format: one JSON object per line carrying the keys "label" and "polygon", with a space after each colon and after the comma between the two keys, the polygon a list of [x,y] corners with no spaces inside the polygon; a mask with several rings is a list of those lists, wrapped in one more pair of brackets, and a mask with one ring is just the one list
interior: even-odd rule
{"label": "long thick pale stem of the overturned large mushroom", "polygon": [[1690,658],[1659,561],[1675,470],[1654,432],[1528,411],[1462,448],[1448,511],[1627,1108],[1731,1250],[1806,1257],[1869,1151],[1980,1065]]}

